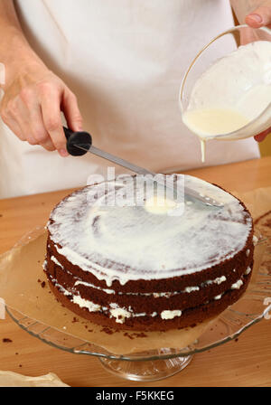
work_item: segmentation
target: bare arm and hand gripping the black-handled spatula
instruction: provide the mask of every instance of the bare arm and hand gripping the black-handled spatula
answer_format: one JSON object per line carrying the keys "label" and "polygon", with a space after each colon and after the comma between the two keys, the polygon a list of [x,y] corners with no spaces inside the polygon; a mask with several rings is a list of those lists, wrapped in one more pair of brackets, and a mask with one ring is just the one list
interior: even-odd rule
{"label": "bare arm and hand gripping the black-handled spatula", "polygon": [[0,0],[0,61],[5,64],[0,114],[31,145],[68,155],[61,111],[74,131],[82,128],[75,95],[43,63],[23,35],[13,0]]}

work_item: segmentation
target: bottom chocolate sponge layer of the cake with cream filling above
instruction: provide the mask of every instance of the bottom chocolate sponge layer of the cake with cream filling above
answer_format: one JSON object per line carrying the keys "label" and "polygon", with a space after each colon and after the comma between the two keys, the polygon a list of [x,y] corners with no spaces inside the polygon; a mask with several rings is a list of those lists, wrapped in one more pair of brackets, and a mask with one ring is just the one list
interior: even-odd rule
{"label": "bottom chocolate sponge layer of the cake with cream filling above", "polygon": [[[69,293],[65,288],[55,282],[55,279],[48,277],[51,291],[63,306],[69,308],[75,314],[82,316],[98,325],[109,326],[115,329],[127,329],[137,331],[162,331],[176,328],[192,327],[214,316],[218,316],[228,306],[234,304],[246,291],[251,277],[244,274],[239,278],[236,287],[224,291],[221,295],[212,297],[201,305],[187,307],[186,309],[174,309],[173,303],[165,303],[159,308],[154,303],[156,311],[134,312],[132,306],[118,306],[113,302],[107,306],[100,306],[93,300],[82,298],[79,295]],[[91,297],[91,299],[93,299]],[[156,300],[156,298],[154,298]],[[169,299],[169,298],[168,298]],[[160,303],[161,304],[161,303]],[[177,308],[179,306],[176,304]],[[172,308],[172,309],[170,309]]]}

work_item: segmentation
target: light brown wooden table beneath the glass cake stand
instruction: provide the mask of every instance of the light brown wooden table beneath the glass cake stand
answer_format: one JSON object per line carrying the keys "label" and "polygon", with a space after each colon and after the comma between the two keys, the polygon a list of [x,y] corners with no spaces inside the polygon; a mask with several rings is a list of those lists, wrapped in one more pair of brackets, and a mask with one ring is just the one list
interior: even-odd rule
{"label": "light brown wooden table beneath the glass cake stand", "polygon": [[[271,185],[271,156],[233,165],[193,170],[189,174],[246,192]],[[0,253],[24,233],[45,224],[51,208],[68,192],[42,193],[0,200]],[[270,207],[271,208],[271,207]],[[11,343],[4,343],[8,337]],[[162,381],[126,381],[106,372],[97,358],[62,352],[24,332],[7,317],[0,321],[0,370],[38,376],[55,372],[77,387],[271,386],[271,320],[263,320],[238,341],[196,354],[182,372]]]}

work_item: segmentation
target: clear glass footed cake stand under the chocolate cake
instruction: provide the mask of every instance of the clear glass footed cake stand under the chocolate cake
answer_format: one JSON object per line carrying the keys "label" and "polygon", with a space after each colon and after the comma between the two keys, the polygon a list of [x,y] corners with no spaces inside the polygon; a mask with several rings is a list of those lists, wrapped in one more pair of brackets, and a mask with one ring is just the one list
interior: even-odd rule
{"label": "clear glass footed cake stand under the chocolate cake", "polygon": [[[266,245],[266,240],[261,239],[257,244]],[[10,306],[6,306],[6,311],[17,325],[42,342],[69,353],[96,356],[108,372],[118,377],[132,381],[162,380],[185,368],[192,361],[194,354],[226,344],[236,339],[248,327],[271,317],[270,246],[265,248],[265,261],[262,260],[262,262],[263,264],[258,266],[257,274],[253,273],[253,278],[243,297],[213,320],[193,344],[184,348],[166,347],[159,350],[150,349],[142,353],[118,355],[109,353],[96,344],[37,322]],[[114,339],[114,335],[112,338]]]}

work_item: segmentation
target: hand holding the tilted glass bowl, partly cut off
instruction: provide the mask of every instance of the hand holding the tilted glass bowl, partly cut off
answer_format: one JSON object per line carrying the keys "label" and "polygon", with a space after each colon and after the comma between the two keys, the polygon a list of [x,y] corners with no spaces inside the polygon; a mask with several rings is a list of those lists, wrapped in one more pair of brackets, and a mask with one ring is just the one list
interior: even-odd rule
{"label": "hand holding the tilted glass bowl, partly cut off", "polygon": [[[271,28],[271,1],[266,1],[260,7],[248,14],[245,19],[246,24],[251,28],[268,27]],[[257,134],[254,139],[262,142],[268,134],[271,133],[271,127],[266,131]]]}

